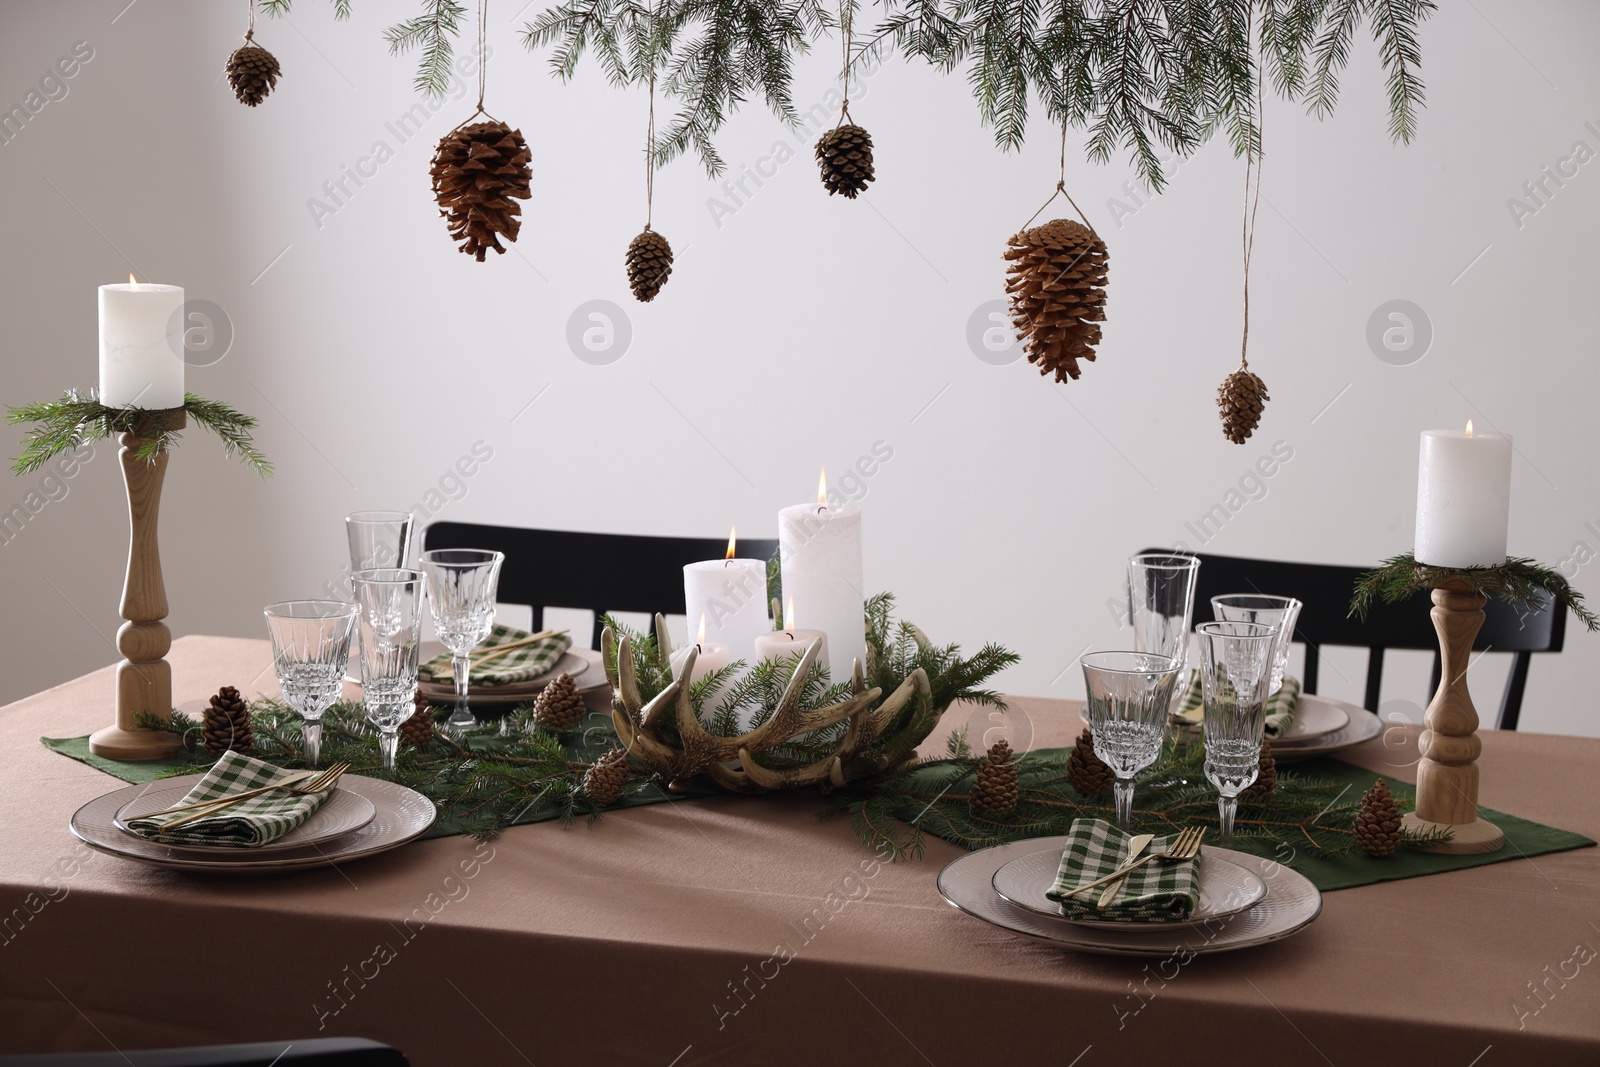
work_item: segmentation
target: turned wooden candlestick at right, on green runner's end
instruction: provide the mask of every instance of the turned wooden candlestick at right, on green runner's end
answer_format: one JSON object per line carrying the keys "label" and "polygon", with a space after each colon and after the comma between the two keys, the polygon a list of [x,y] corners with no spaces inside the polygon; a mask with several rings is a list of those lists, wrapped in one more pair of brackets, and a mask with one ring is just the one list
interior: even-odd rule
{"label": "turned wooden candlestick at right, on green runner's end", "polygon": [[1506,843],[1506,835],[1493,822],[1478,817],[1478,712],[1467,693],[1467,664],[1472,640],[1483,625],[1483,593],[1474,592],[1461,579],[1448,579],[1434,589],[1434,629],[1438,632],[1442,670],[1438,693],[1427,705],[1418,750],[1422,761],[1416,769],[1416,813],[1405,816],[1403,829],[1426,832],[1448,829],[1451,840],[1418,845],[1427,853],[1493,853]]}

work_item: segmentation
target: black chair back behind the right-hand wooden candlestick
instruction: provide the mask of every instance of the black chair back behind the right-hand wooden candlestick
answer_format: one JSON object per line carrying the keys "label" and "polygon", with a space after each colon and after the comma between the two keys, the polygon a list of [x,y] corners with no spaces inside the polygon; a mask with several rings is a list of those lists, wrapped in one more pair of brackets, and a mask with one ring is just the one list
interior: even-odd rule
{"label": "black chair back behind the right-hand wooden candlestick", "polygon": [[[1163,552],[1165,549],[1150,549]],[[1376,712],[1378,694],[1384,680],[1384,651],[1390,648],[1421,649],[1434,653],[1434,675],[1429,699],[1438,689],[1440,659],[1438,635],[1429,616],[1432,600],[1426,592],[1406,601],[1373,605],[1366,621],[1350,616],[1350,595],[1366,568],[1336,566],[1328,563],[1283,563],[1278,560],[1248,560],[1230,555],[1206,555],[1200,558],[1200,581],[1195,592],[1195,622],[1211,619],[1211,597],[1224,593],[1280,593],[1304,601],[1294,640],[1306,643],[1306,693],[1317,691],[1317,667],[1323,645],[1354,645],[1368,649],[1366,697],[1363,705]],[[1504,600],[1490,597],[1483,608],[1483,629],[1478,630],[1474,651],[1514,653],[1512,669],[1501,696],[1498,729],[1517,729],[1522,715],[1522,694],[1528,685],[1528,664],[1533,653],[1558,653],[1566,637],[1566,613],[1552,609],[1546,600],[1539,609],[1530,611]]]}

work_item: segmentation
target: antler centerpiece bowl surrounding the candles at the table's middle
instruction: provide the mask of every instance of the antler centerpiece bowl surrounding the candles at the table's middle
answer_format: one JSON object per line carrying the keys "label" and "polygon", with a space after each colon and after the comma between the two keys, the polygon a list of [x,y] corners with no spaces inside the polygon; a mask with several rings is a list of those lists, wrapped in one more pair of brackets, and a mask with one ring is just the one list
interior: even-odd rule
{"label": "antler centerpiece bowl surrounding the candles at the table's middle", "polygon": [[[611,683],[611,721],[629,755],[667,784],[683,792],[698,779],[738,793],[765,793],[778,789],[819,785],[824,790],[896,771],[915,761],[915,749],[933,731],[939,713],[931,709],[933,693],[922,667],[882,699],[882,688],[867,688],[861,661],[851,672],[850,694],[826,707],[803,707],[822,641],[813,641],[795,664],[776,709],[757,726],[736,736],[706,729],[690,697],[696,648],[690,648],[677,678],[648,701],[638,677],[632,638],[621,638],[611,627],[603,633],[605,672]],[[672,643],[662,616],[656,616],[654,661],[648,667],[666,680],[672,669]],[[762,753],[794,749],[797,741],[846,723],[830,752],[800,766],[774,768],[760,761]]]}

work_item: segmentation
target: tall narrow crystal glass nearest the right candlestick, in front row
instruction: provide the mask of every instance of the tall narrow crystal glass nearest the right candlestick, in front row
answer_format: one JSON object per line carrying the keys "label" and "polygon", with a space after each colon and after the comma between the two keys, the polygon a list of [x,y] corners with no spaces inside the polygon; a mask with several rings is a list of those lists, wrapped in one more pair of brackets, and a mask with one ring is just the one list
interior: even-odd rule
{"label": "tall narrow crystal glass nearest the right candlestick, in front row", "polygon": [[1238,793],[1261,769],[1267,683],[1278,629],[1259,622],[1202,622],[1200,688],[1205,697],[1205,776],[1216,785],[1222,845],[1234,843]]}

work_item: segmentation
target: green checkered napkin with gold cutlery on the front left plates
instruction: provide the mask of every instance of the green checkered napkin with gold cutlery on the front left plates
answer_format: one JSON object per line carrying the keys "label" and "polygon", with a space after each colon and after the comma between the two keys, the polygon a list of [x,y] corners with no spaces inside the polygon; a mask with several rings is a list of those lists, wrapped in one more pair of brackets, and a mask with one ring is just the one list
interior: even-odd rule
{"label": "green checkered napkin with gold cutlery on the front left plates", "polygon": [[[285,771],[283,768],[251,760],[248,755],[224,752],[206,776],[195,782],[195,787],[179,801],[194,805],[202,800],[216,800],[229,793],[242,793],[275,781],[301,774],[302,771]],[[154,819],[130,819],[128,829],[139,837],[162,845],[216,845],[221,848],[251,848],[266,845],[283,837],[301,822],[309,819],[330,793],[315,797],[299,797],[286,792],[270,792],[250,800],[242,800],[219,814],[206,819],[195,819],[176,830],[163,830],[168,822],[184,817],[186,811]],[[179,805],[168,805],[176,808]]]}

